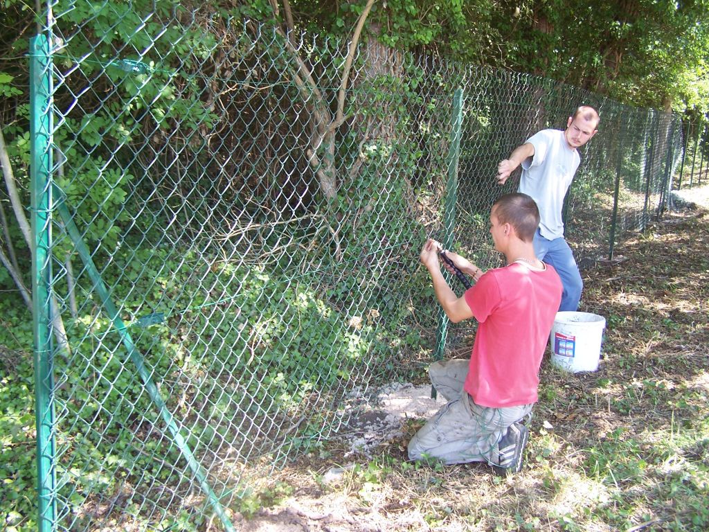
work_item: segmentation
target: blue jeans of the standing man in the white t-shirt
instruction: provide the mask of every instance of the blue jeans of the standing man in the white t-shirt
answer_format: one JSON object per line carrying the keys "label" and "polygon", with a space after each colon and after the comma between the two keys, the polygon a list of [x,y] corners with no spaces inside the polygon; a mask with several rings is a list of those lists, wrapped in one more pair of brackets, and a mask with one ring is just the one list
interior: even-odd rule
{"label": "blue jeans of the standing man in the white t-shirt", "polygon": [[534,253],[539,260],[552,265],[554,270],[557,270],[559,277],[562,278],[564,292],[562,293],[562,303],[559,304],[559,311],[575,312],[579,308],[584,281],[581,279],[579,267],[576,265],[569,244],[566,243],[563,236],[547,240],[537,229],[534,235]]}

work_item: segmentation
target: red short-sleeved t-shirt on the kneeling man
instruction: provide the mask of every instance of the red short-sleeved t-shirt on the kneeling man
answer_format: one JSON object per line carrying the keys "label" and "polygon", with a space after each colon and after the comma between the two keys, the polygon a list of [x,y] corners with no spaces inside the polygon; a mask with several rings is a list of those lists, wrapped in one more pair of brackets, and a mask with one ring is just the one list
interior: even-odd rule
{"label": "red short-sleeved t-shirt on the kneeling man", "polygon": [[537,401],[539,367],[562,299],[557,271],[518,262],[488,270],[465,292],[480,322],[464,389],[476,404],[502,408]]}

